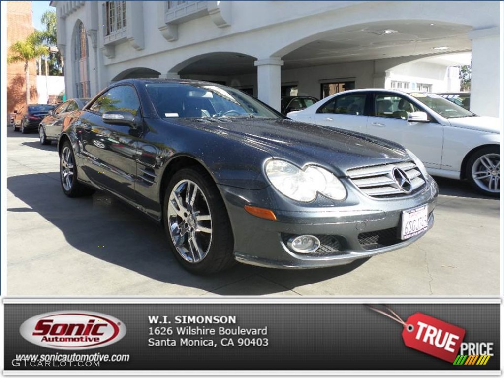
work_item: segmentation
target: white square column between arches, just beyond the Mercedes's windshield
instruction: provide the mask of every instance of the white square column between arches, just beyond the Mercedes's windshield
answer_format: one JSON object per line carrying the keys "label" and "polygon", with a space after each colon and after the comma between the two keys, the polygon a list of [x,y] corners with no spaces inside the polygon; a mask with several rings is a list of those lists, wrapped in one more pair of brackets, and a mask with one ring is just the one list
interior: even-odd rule
{"label": "white square column between arches, just beyond the Mercedes's windshield", "polygon": [[280,111],[280,84],[281,67],[283,60],[280,58],[260,59],[254,62],[257,67],[258,98]]}

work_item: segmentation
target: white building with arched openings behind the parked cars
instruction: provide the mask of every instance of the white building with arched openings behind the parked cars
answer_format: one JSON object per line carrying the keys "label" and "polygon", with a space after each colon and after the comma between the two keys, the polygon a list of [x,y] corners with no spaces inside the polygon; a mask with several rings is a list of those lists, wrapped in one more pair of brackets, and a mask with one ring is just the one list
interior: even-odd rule
{"label": "white building with arched openings behind the parked cars", "polygon": [[[409,89],[434,90],[436,80],[453,73],[422,59],[472,51],[471,110],[498,116],[502,103],[499,2],[53,1],[51,6],[58,48],[67,61],[69,98],[141,77],[222,82],[275,108],[292,89],[321,98],[348,88],[392,87],[408,75],[431,80],[430,88]],[[415,61],[420,63],[404,65]]]}

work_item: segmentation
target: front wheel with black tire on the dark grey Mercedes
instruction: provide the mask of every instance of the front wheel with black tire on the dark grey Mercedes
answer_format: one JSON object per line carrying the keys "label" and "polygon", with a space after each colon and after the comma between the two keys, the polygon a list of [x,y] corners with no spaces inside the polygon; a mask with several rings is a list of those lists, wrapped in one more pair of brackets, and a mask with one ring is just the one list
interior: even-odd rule
{"label": "front wheel with black tire on the dark grey Mercedes", "polygon": [[164,195],[163,223],[175,258],[191,273],[212,274],[234,265],[226,207],[203,168],[184,168],[170,179]]}

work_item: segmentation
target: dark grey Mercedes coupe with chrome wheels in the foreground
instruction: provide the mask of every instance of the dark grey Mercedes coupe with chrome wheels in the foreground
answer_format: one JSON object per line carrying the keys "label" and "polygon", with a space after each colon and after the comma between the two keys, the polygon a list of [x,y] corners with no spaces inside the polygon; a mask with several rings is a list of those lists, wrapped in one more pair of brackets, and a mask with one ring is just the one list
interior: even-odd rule
{"label": "dark grey Mercedes coupe with chrome wheels in the foreground", "polygon": [[200,274],[347,264],[433,224],[437,185],[411,152],[214,83],[116,82],[65,118],[58,152],[67,196],[114,194]]}

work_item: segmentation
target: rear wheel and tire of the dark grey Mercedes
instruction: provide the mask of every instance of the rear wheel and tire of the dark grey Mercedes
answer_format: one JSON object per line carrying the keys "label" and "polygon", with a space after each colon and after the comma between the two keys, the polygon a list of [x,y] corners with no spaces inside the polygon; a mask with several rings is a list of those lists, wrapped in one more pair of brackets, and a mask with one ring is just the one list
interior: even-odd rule
{"label": "rear wheel and tire of the dark grey Mercedes", "polygon": [[66,196],[75,198],[89,196],[94,190],[79,182],[77,179],[77,164],[75,163],[75,155],[72,145],[66,141],[61,148],[59,156],[59,179],[61,188]]}

